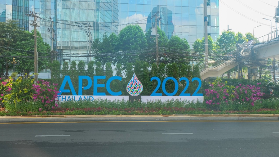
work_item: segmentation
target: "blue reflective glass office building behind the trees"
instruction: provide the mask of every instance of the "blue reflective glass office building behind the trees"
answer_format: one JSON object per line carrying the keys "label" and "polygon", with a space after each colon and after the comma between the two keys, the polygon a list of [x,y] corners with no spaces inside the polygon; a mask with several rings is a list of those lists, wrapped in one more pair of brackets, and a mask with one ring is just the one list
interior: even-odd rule
{"label": "blue reflective glass office building behind the trees", "polygon": [[[118,34],[127,24],[137,23],[145,32],[155,22],[150,17],[157,11],[158,26],[170,38],[178,35],[192,46],[204,37],[203,0],[0,0],[0,21],[18,20],[31,31],[33,18],[25,15],[35,11],[41,19],[38,30],[45,42],[53,46],[59,59],[89,53],[89,40],[101,38],[106,32]],[[207,0],[208,34],[214,41],[219,36],[219,0]],[[54,25],[51,26],[51,20]],[[71,57],[71,60],[87,58]]]}

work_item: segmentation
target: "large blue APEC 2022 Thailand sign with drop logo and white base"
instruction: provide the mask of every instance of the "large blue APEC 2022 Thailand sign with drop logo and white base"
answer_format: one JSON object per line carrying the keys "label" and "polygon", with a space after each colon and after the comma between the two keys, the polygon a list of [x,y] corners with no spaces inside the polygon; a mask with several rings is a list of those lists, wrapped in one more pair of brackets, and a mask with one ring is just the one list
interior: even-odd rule
{"label": "large blue APEC 2022 Thailand sign with drop logo and white base", "polygon": [[[112,96],[122,95],[121,91],[116,91],[115,92],[110,88],[110,83],[113,80],[122,81],[122,77],[113,76],[113,77],[111,77],[107,80],[106,84],[98,84],[98,79],[105,79],[105,78],[106,78],[106,76],[94,76],[93,77],[93,83],[92,83],[92,80],[89,76],[78,76],[78,95],[77,95],[77,93],[76,93],[76,91],[73,87],[73,83],[71,81],[70,76],[65,76],[64,80],[61,84],[61,87],[59,89],[60,93],[58,95],[60,95],[60,96],[58,96],[58,101],[72,101],[72,100],[75,100],[75,101],[91,100],[91,101],[93,101],[94,97],[109,98],[109,97],[112,97]],[[87,84],[87,86],[82,87],[82,81],[84,79],[88,81],[88,84]],[[161,86],[160,78],[152,77],[150,79],[150,81],[153,81],[153,80],[156,80],[158,84],[157,84],[157,87],[154,89],[154,91],[152,92],[152,94],[150,96],[157,97],[157,98],[161,99],[162,97],[174,96],[178,92],[179,84],[178,84],[177,80],[173,77],[167,77],[162,82],[162,90],[163,90],[163,92],[166,96],[162,96],[162,93],[157,93],[157,90]],[[175,83],[175,89],[172,93],[168,93],[166,91],[166,82],[168,80],[172,80]],[[190,93],[186,93],[187,89],[189,87],[189,83],[190,83],[188,78],[185,78],[185,77],[179,78],[179,82],[181,82],[183,80],[186,81],[186,86],[185,86],[184,90],[179,94],[179,96],[175,96],[175,98],[180,98],[181,99],[181,96],[183,96],[183,98],[185,98],[185,96],[186,96],[188,99],[193,98],[193,97],[195,97],[195,98],[196,97],[198,97],[198,98],[202,97],[202,101],[203,101],[203,95],[201,93],[197,93],[199,91],[199,89],[201,88],[201,79],[200,78],[192,78],[191,82],[198,81],[198,83],[199,83],[196,91],[193,93],[192,96],[190,95]],[[69,83],[70,89],[64,89],[67,82]],[[92,84],[93,84],[93,95],[92,96],[82,96],[82,90],[89,89],[92,86]],[[127,84],[126,91],[130,94],[130,96],[139,96],[140,93],[144,89],[143,86],[144,85],[139,81],[139,79],[136,77],[136,75],[134,73],[130,82]],[[97,92],[98,87],[105,87],[107,92],[112,96],[106,96],[106,94],[104,92]],[[72,92],[71,96],[61,96],[62,93],[70,93],[70,92]],[[150,99],[150,96],[147,96],[147,98]],[[122,99],[123,99],[125,96],[120,96],[120,97],[122,97]],[[115,99],[115,97],[114,97],[114,99]]]}

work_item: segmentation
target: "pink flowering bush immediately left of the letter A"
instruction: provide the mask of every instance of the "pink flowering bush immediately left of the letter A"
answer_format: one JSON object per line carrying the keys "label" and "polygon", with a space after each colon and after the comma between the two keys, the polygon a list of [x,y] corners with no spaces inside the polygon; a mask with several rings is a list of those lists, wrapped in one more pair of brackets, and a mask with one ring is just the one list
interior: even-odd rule
{"label": "pink flowering bush immediately left of the letter A", "polygon": [[38,109],[39,111],[58,107],[58,104],[55,103],[55,99],[59,93],[59,91],[57,91],[57,84],[53,83],[50,85],[49,82],[41,80],[41,82],[38,81],[38,84],[33,84],[33,90],[35,91],[33,100],[40,101],[43,105]]}

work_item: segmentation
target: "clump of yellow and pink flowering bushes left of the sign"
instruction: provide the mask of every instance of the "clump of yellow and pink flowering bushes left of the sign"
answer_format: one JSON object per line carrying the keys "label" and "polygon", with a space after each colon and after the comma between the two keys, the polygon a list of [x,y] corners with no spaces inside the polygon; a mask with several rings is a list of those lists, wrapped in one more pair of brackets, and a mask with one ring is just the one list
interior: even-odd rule
{"label": "clump of yellow and pink flowering bushes left of the sign", "polygon": [[58,105],[55,103],[57,97],[57,84],[50,85],[47,81],[34,84],[34,80],[19,77],[2,81],[0,84],[0,105],[2,104],[8,111],[32,112],[47,111],[54,109]]}

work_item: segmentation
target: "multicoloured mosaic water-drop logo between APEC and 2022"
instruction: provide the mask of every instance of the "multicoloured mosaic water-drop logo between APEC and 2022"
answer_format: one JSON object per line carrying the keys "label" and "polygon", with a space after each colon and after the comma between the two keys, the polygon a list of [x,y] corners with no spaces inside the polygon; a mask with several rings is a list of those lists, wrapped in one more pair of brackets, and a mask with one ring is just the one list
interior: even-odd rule
{"label": "multicoloured mosaic water-drop logo between APEC and 2022", "polygon": [[131,96],[138,96],[142,92],[142,90],[143,90],[143,86],[134,73],[132,79],[130,80],[130,82],[127,85],[127,92]]}

